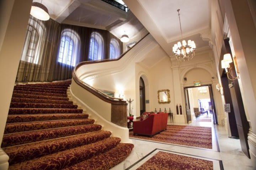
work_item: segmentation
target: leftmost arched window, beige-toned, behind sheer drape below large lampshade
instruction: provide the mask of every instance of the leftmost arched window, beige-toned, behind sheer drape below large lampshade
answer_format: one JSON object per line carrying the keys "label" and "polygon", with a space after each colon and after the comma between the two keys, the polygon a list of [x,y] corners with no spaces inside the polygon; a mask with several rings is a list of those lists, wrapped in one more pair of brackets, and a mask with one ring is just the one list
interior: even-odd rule
{"label": "leftmost arched window, beige-toned, behind sheer drape below large lampshade", "polygon": [[34,64],[40,64],[40,50],[45,32],[44,24],[39,20],[32,18],[28,21],[27,35],[22,51],[21,60]]}

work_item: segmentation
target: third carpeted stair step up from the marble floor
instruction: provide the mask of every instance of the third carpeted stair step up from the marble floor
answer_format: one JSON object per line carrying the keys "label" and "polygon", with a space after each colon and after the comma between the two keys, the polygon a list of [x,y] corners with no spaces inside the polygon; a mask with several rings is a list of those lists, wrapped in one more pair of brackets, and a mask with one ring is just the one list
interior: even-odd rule
{"label": "third carpeted stair step up from the marble floor", "polygon": [[87,134],[8,147],[4,148],[4,151],[7,155],[9,155],[9,164],[12,165],[26,160],[39,158],[44,155],[64,151],[66,149],[88,145],[90,143],[108,138],[110,135],[111,132],[109,131],[99,130]]}

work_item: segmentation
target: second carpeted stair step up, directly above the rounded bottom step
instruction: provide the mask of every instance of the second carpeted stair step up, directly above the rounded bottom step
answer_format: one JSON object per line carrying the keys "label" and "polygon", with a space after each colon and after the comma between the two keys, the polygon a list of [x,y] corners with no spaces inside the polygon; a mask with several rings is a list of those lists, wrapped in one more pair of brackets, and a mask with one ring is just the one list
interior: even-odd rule
{"label": "second carpeted stair step up, directly above the rounded bottom step", "polygon": [[109,137],[104,140],[91,143],[65,151],[46,155],[44,157],[27,160],[18,164],[9,166],[9,169],[63,169],[66,166],[72,166],[83,160],[90,159],[100,153],[104,153],[121,141],[118,137]]}

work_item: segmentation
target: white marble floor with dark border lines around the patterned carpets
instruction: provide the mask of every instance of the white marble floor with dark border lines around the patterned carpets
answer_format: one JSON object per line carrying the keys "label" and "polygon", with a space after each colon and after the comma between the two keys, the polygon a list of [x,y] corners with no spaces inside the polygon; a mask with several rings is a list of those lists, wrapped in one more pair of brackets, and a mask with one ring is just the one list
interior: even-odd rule
{"label": "white marble floor with dark border lines around the patterned carpets", "polygon": [[137,169],[158,151],[211,160],[214,170],[253,170],[251,159],[247,158],[241,151],[240,141],[238,139],[229,138],[224,126],[213,125],[211,122],[196,121],[189,125],[212,127],[213,149],[131,139],[134,144],[132,153],[127,159],[111,170]]}

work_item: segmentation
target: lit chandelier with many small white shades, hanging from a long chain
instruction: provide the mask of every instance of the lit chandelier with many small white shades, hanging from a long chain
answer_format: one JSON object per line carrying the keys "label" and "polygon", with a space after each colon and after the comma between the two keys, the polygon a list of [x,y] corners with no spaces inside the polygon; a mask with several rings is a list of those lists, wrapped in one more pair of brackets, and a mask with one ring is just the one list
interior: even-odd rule
{"label": "lit chandelier with many small white shades, hanging from a long chain", "polygon": [[[178,17],[180,20],[180,9],[177,9],[178,11]],[[181,22],[180,22],[180,29],[181,29]],[[181,30],[181,39],[183,39],[182,30]],[[194,57],[194,51],[196,49],[196,44],[194,41],[188,40],[182,40],[182,42],[178,42],[177,44],[174,44],[172,47],[172,51],[175,54],[175,57],[178,61],[188,61],[191,60]]]}

